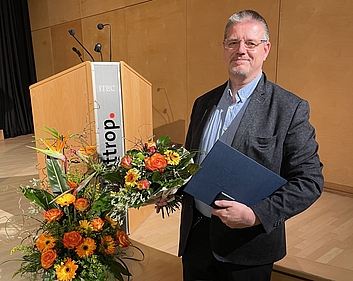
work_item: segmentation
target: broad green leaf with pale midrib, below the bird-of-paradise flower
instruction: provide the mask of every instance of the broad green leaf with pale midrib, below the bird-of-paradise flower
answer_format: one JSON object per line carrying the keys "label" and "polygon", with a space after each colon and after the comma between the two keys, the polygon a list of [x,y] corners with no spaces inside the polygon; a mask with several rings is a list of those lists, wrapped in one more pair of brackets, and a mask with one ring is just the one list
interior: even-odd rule
{"label": "broad green leaf with pale midrib, below the bird-of-paradise flower", "polygon": [[50,187],[55,196],[58,196],[65,191],[69,190],[69,186],[66,182],[63,168],[61,167],[59,160],[51,157],[47,157],[46,166],[48,172],[48,178]]}

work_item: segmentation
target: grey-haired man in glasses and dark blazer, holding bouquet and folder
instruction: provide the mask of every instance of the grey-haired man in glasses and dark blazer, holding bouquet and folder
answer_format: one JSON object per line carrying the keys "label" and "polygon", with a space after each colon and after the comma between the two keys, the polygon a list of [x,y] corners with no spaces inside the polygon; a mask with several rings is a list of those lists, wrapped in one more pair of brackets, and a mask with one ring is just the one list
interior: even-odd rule
{"label": "grey-haired man in glasses and dark blazer, holding bouquet and folder", "polygon": [[[286,254],[284,222],[321,195],[322,164],[309,105],[267,80],[262,65],[270,48],[267,24],[257,12],[229,18],[223,41],[229,80],[195,101],[185,147],[207,153],[231,134],[232,147],[287,183],[252,206],[220,200],[212,209],[184,194],[184,281],[270,280],[273,263]],[[204,157],[196,159],[201,166]]]}

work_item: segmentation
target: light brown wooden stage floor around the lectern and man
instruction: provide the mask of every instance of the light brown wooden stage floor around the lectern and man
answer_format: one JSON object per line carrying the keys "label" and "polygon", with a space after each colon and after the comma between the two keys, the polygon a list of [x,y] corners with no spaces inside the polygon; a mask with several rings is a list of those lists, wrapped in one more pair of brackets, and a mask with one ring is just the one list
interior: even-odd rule
{"label": "light brown wooden stage floor around the lectern and man", "polygon": [[[22,195],[17,187],[37,178],[36,153],[26,147],[33,145],[32,139],[27,135],[0,141],[0,263],[10,257],[10,249],[17,245],[17,241],[8,241],[4,235],[4,218],[19,212]],[[146,251],[159,257],[157,265],[165,257],[171,261],[170,266],[175,266],[174,279],[170,276],[172,279],[163,280],[181,280],[180,259],[176,257],[179,220],[180,211],[165,219],[152,212],[130,235],[131,239],[146,247]],[[353,198],[324,192],[312,207],[288,220],[286,225],[288,254],[276,263],[275,271],[285,272],[288,276],[299,275],[302,280],[353,280]],[[17,267],[17,263],[1,267],[0,280],[11,280]],[[162,268],[153,266],[157,271]],[[141,275],[135,276],[133,280],[149,280],[141,278]]]}

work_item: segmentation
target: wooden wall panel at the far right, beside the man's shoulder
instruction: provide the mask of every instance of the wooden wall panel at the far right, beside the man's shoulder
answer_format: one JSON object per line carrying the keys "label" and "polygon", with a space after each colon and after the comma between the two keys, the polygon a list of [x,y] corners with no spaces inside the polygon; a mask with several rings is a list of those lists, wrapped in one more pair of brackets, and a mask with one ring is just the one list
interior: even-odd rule
{"label": "wooden wall panel at the far right, beside the man's shoulder", "polygon": [[353,190],[352,10],[352,1],[282,1],[278,82],[311,104],[325,181]]}

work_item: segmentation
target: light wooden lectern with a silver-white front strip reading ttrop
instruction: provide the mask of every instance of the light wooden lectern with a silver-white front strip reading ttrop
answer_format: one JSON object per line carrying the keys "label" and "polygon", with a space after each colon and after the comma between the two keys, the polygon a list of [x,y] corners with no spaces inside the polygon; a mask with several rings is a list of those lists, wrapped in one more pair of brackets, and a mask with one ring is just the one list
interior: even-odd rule
{"label": "light wooden lectern with a silver-white front strip reading ttrop", "polygon": [[[107,164],[130,149],[136,140],[153,136],[152,85],[124,62],[83,62],[30,87],[34,133],[44,127],[66,134],[82,133]],[[38,153],[39,177],[45,159]],[[131,209],[131,233],[153,206]]]}

